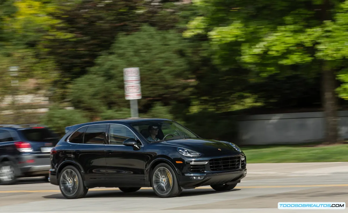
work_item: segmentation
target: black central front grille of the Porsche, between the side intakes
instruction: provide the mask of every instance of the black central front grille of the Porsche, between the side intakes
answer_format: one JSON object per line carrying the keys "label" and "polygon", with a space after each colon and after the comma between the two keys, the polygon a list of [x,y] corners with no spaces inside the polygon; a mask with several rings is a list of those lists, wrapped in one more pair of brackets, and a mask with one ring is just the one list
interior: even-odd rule
{"label": "black central front grille of the Porsche, between the side intakes", "polygon": [[209,160],[210,170],[227,171],[239,169],[240,157],[215,158]]}

